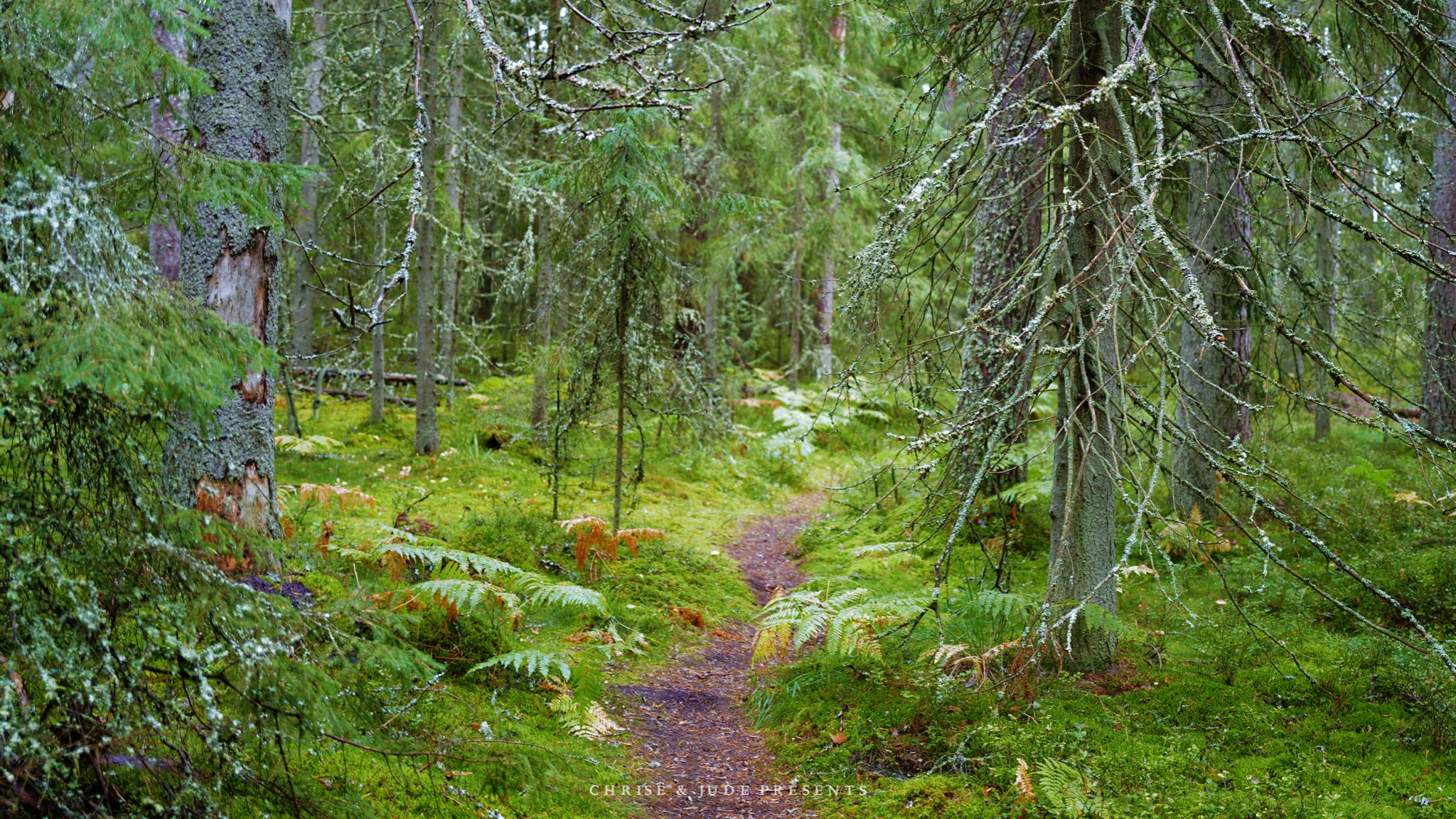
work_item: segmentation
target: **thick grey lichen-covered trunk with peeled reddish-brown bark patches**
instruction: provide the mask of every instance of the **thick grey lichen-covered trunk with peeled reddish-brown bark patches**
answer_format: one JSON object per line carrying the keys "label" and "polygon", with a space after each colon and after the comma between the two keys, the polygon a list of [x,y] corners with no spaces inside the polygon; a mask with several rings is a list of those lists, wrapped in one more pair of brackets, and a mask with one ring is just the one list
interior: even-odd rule
{"label": "thick grey lichen-covered trunk with peeled reddish-brown bark patches", "polygon": [[[274,162],[287,146],[288,1],[221,0],[205,23],[194,67],[214,93],[192,101],[198,149],[227,159]],[[274,208],[281,203],[274,198]],[[198,205],[182,233],[179,284],[268,345],[278,341],[281,236],[237,208]],[[277,536],[271,373],[242,373],[214,424],[173,424],[167,462],[181,503]]]}

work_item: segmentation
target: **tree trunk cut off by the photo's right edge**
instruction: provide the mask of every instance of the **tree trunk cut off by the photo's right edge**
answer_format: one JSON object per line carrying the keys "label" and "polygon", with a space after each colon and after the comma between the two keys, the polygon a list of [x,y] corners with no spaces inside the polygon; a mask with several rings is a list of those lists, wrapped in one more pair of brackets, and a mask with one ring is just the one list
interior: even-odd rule
{"label": "tree trunk cut off by the photo's right edge", "polygon": [[[1456,0],[1447,0],[1456,13]],[[1456,45],[1456,31],[1447,35]],[[1456,111],[1456,93],[1446,98]],[[1431,261],[1444,268],[1444,278],[1425,278],[1425,360],[1421,377],[1421,426],[1441,437],[1456,436],[1456,134],[1444,125],[1436,131],[1431,184]]]}

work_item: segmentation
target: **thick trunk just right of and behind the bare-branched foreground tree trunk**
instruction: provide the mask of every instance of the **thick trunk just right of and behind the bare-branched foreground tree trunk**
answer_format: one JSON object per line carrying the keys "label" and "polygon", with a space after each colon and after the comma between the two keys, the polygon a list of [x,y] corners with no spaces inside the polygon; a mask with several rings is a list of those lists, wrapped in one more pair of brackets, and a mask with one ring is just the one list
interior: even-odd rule
{"label": "thick trunk just right of and behind the bare-branched foreground tree trunk", "polygon": [[[1216,60],[1201,51],[1206,66]],[[1219,68],[1213,68],[1219,70]],[[1232,82],[1232,77],[1227,77]],[[1238,102],[1216,83],[1200,76],[1204,103],[1214,112],[1210,138],[1227,136],[1217,122],[1233,118]],[[1188,240],[1195,246],[1188,254],[1188,267],[1201,287],[1201,297],[1223,331],[1226,345],[1236,357],[1208,347],[1192,322],[1184,322],[1179,340],[1176,423],[1206,450],[1222,452],[1233,440],[1249,437],[1249,307],[1239,294],[1233,273],[1224,267],[1246,268],[1251,255],[1249,197],[1238,162],[1222,152],[1207,152],[1191,163],[1188,181]],[[1223,259],[1211,265],[1204,255]],[[1184,517],[1200,509],[1204,520],[1216,516],[1216,463],[1198,447],[1179,444],[1174,449],[1172,494],[1178,513]]]}

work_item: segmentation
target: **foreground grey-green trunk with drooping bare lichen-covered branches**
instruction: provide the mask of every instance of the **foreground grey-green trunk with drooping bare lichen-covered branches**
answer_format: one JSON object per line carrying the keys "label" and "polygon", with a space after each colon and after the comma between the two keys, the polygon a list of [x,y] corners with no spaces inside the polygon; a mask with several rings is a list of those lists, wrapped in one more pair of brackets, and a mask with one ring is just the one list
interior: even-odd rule
{"label": "foreground grey-green trunk with drooping bare lichen-covered branches", "polygon": [[[1118,38],[1109,34],[1120,31],[1114,9],[1107,0],[1077,0],[1063,44],[1070,96],[1085,102],[1070,125],[1080,133],[1067,138],[1067,165],[1061,171],[1067,195],[1077,204],[1066,217],[1067,251],[1056,278],[1059,286],[1073,287],[1053,322],[1063,344],[1082,340],[1057,373],[1047,577],[1047,597],[1057,618],[1083,603],[1117,615],[1118,351],[1111,316],[1099,324],[1093,319],[1115,297],[1105,248],[1117,230],[1111,203],[1121,168],[1121,137],[1115,98],[1086,102],[1120,60]],[[1073,669],[1102,669],[1117,654],[1117,632],[1101,624],[1093,628],[1086,609],[1050,637],[1063,663]]]}

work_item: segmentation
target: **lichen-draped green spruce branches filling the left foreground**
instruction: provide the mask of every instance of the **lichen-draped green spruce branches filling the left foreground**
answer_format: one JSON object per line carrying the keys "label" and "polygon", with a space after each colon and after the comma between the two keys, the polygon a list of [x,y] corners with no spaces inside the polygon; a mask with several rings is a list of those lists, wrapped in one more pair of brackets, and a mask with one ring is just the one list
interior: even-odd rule
{"label": "lichen-draped green spruce branches filling the left foreground", "polygon": [[325,732],[358,736],[373,698],[341,692],[432,663],[387,624],[339,632],[218,568],[278,558],[163,500],[166,418],[207,421],[271,357],[156,286],[84,187],[31,179],[0,195],[0,803],[185,815],[239,791],[264,809],[319,799],[288,765]]}

